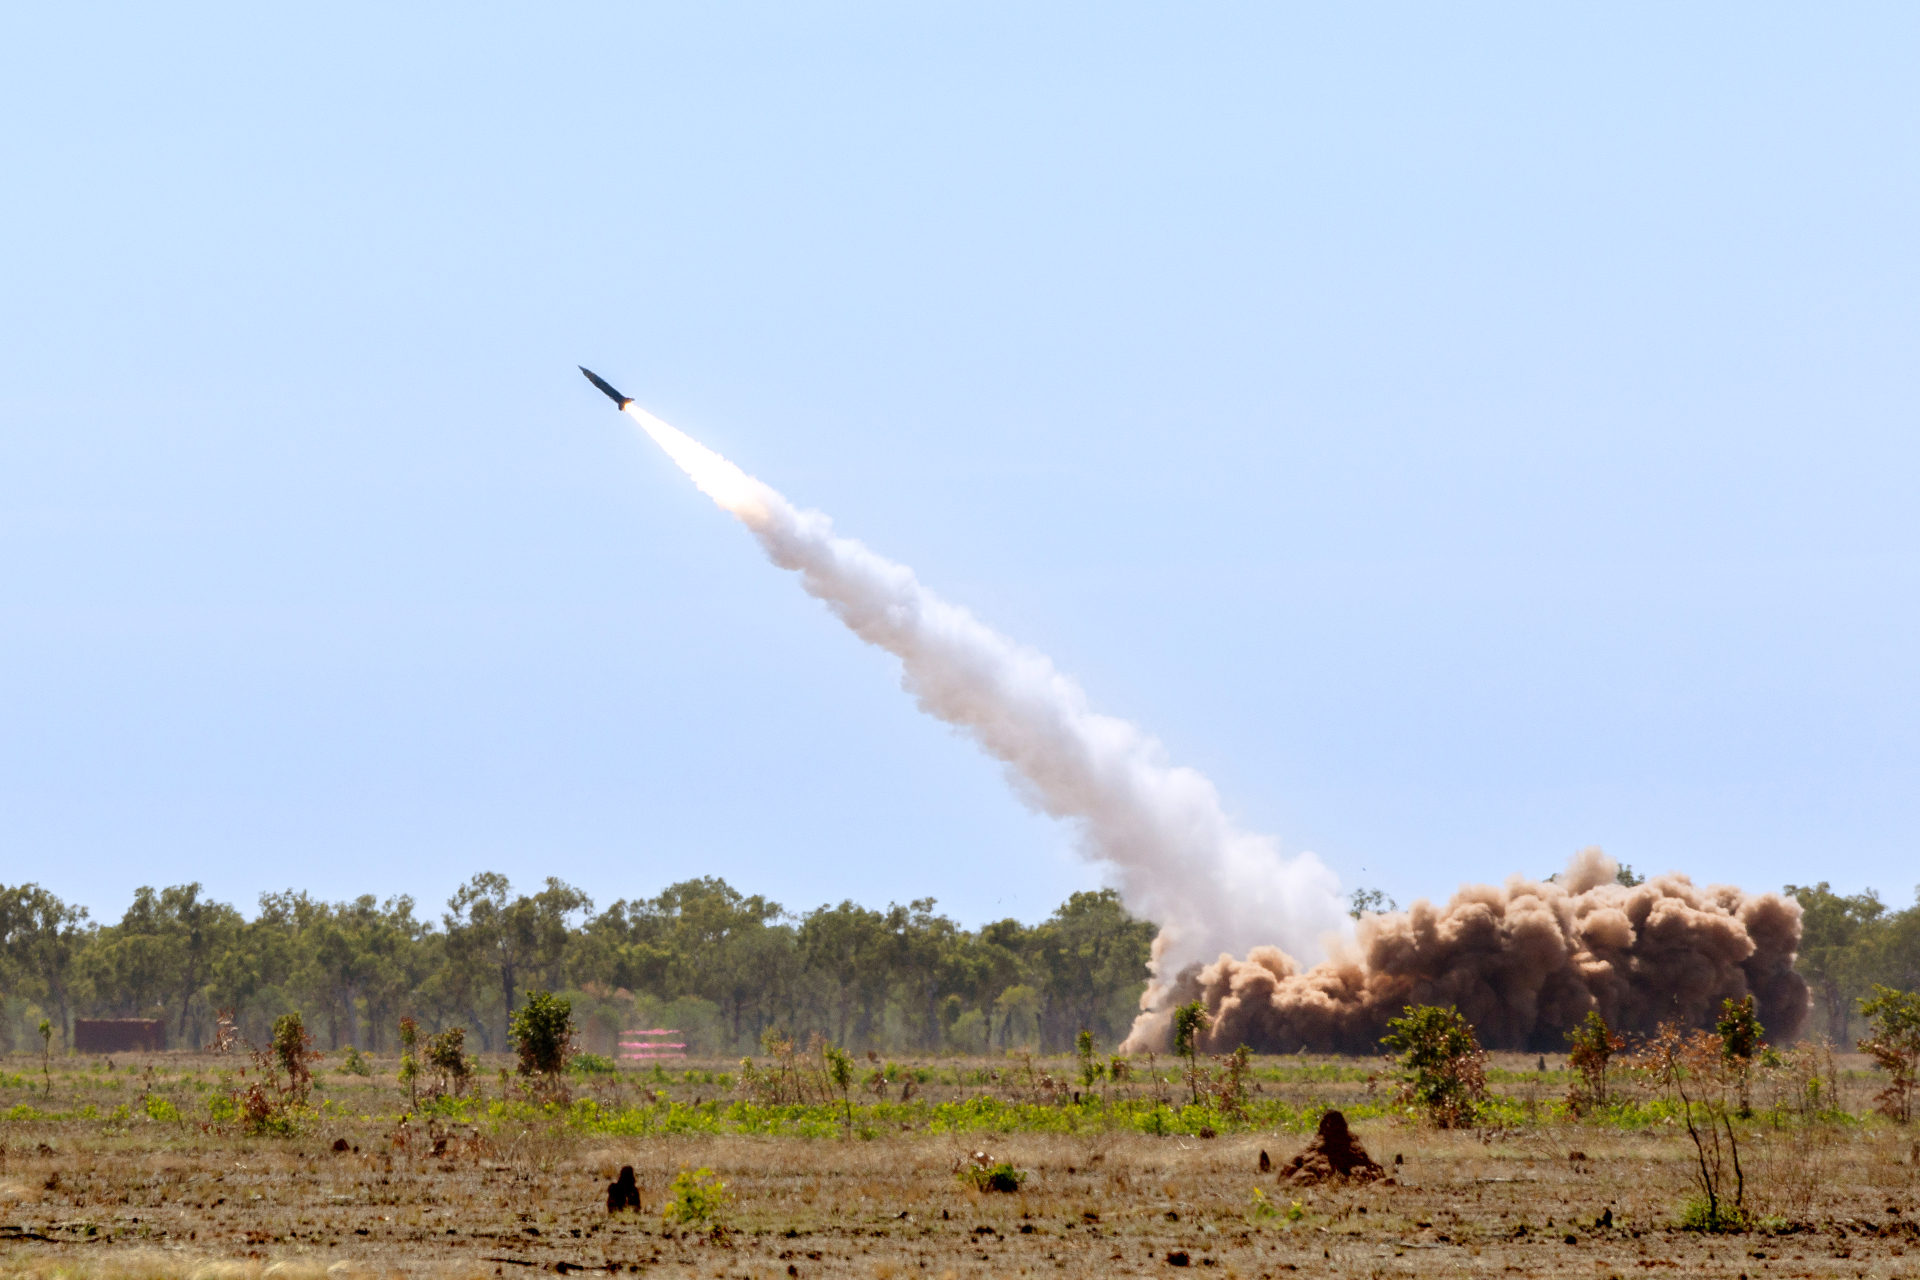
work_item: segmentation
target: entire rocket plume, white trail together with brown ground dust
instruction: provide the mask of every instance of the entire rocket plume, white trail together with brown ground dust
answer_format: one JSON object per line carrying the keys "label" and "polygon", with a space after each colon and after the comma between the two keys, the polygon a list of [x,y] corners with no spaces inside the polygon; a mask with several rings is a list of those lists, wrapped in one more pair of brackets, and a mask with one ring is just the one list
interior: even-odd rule
{"label": "entire rocket plume, white trail together with brown ground dust", "polygon": [[[1031,808],[1075,821],[1081,852],[1110,869],[1127,908],[1160,923],[1154,981],[1123,1048],[1164,1048],[1171,1006],[1187,1000],[1212,1011],[1210,1046],[1263,1052],[1369,1054],[1407,1004],[1457,1006],[1484,1046],[1536,1052],[1563,1050],[1588,1009],[1644,1034],[1668,1019],[1707,1025],[1720,1000],[1753,994],[1772,1038],[1807,1021],[1797,904],[1684,875],[1628,889],[1599,850],[1555,881],[1465,887],[1444,910],[1417,902],[1348,935],[1334,875],[1313,854],[1283,858],[1269,837],[1235,827],[1213,783],[1091,710],[1044,654],[639,405],[624,409],[774,564],[900,660],[924,712],[1000,760]],[[1294,958],[1329,942],[1332,958],[1302,971]]]}

